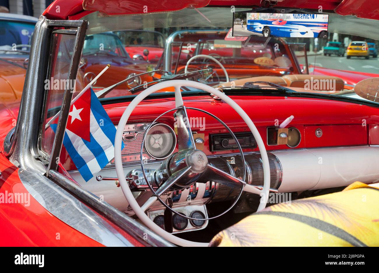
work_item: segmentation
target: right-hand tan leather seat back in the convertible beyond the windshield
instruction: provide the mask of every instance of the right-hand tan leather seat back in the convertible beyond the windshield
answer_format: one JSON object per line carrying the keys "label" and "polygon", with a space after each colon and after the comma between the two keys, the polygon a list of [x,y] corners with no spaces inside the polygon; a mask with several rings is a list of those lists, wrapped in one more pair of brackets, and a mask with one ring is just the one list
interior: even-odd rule
{"label": "right-hand tan leather seat back in the convertible beyond the windshield", "polygon": [[[344,90],[345,85],[341,78],[334,76],[292,74],[282,76],[282,78],[287,82],[288,87],[300,87],[307,88],[310,90],[313,90],[312,87],[314,87],[315,83],[318,81],[319,87],[315,88],[315,90],[318,91],[341,91]],[[307,86],[309,82],[312,84],[311,88]]]}

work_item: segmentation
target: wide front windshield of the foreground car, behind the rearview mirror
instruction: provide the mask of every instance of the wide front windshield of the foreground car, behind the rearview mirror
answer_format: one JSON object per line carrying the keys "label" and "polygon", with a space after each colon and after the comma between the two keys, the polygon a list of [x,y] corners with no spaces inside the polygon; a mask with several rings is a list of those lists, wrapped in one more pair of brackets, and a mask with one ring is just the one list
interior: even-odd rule
{"label": "wide front windshield of the foreground car, behind the rearview mirror", "polygon": [[[243,10],[246,9],[235,9]],[[169,80],[164,76],[168,73],[209,70],[197,73],[196,77],[189,74],[182,78],[221,88],[265,81],[295,92],[364,100],[354,93],[354,86],[363,79],[378,76],[379,65],[373,59],[377,60],[379,42],[373,39],[373,34],[371,38],[360,37],[354,29],[349,34],[346,26],[349,22],[341,21],[340,17],[343,16],[330,14],[329,28],[334,32],[327,33],[327,38],[235,39],[231,34],[230,8],[109,17],[93,12],[83,17],[90,24],[79,74],[91,75],[84,79],[88,83],[111,64],[92,84],[95,92],[106,91],[100,98],[135,96],[147,86]],[[246,22],[234,24],[246,27],[243,25]],[[161,90],[166,95],[172,91]],[[191,91],[191,88],[182,90]]]}

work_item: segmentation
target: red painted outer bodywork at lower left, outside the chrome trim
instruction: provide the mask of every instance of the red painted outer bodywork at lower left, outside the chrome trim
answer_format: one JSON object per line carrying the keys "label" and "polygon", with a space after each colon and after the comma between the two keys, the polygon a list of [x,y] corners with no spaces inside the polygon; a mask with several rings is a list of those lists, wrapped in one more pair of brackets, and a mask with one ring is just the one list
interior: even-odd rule
{"label": "red painted outer bodywork at lower left, outside the chrome trim", "polygon": [[[6,134],[16,125],[17,114],[18,104],[0,104],[0,149]],[[18,168],[2,152],[0,170],[0,194],[28,193],[19,179]],[[53,216],[31,195],[28,206],[1,203],[0,222],[0,246],[102,246]]]}

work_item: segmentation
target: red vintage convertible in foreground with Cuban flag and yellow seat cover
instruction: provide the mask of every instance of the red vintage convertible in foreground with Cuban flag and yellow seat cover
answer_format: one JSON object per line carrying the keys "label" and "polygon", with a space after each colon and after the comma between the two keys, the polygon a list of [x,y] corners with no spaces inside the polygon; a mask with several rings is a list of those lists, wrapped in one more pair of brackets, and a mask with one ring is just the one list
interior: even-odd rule
{"label": "red vintage convertible in foreground with Cuban flag and yellow seat cover", "polygon": [[[323,5],[329,31],[379,40],[373,0],[54,1],[34,30],[21,102],[0,104],[0,245],[378,246],[379,79],[347,89],[286,63],[290,40],[267,40],[253,65],[254,49],[215,39],[232,27],[230,6],[266,2]],[[145,28],[169,34],[157,67],[114,77],[101,60],[111,85],[83,87],[86,37]],[[173,43],[186,31],[198,52],[181,65],[172,49],[182,54]],[[232,56],[205,54],[215,45]]]}

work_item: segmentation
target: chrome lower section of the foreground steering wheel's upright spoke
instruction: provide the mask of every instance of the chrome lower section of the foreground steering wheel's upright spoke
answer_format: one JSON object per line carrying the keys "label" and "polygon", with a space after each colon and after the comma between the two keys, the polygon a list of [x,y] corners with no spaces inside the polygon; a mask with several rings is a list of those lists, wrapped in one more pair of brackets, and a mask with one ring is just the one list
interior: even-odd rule
{"label": "chrome lower section of the foreground steering wheel's upright spoke", "polygon": [[196,149],[185,106],[183,106],[182,109],[177,110],[176,124],[179,151],[186,149]]}

